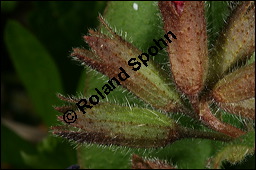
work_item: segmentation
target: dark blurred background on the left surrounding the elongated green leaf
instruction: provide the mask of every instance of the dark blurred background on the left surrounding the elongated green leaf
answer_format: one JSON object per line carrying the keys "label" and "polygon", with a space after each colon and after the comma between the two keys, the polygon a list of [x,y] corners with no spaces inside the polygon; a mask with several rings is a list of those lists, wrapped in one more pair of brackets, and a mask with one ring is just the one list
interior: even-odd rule
{"label": "dark blurred background on the left surrounding the elongated green leaf", "polygon": [[[56,145],[54,150],[40,151],[40,147],[47,147],[41,139],[48,134],[48,125],[35,112],[33,99],[9,55],[5,41],[7,23],[17,21],[36,37],[59,71],[63,87],[60,91],[76,94],[83,67],[72,61],[69,54],[72,47],[86,47],[82,36],[87,34],[88,28],[97,27],[97,16],[103,12],[105,5],[106,2],[95,1],[1,1],[1,168],[66,168],[77,162],[73,146],[59,139],[50,138],[45,142]],[[17,40],[13,38],[13,41]],[[31,64],[27,63],[27,67]],[[51,82],[45,85],[51,86]],[[52,113],[56,114],[53,109]],[[19,130],[23,133],[19,134]],[[28,165],[21,152],[39,156],[29,157],[27,161],[34,161]]]}

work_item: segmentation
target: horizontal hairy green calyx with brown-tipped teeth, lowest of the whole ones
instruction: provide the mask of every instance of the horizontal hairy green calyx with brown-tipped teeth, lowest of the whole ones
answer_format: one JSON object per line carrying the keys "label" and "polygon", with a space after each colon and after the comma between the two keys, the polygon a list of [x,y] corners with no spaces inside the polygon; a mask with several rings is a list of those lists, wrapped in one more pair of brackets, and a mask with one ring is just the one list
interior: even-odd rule
{"label": "horizontal hairy green calyx with brown-tipped teeth, lowest of the whole ones", "polygon": [[179,137],[173,120],[145,108],[101,103],[86,114],[75,112],[78,118],[74,123],[53,127],[53,133],[79,143],[143,148],[162,147]]}

